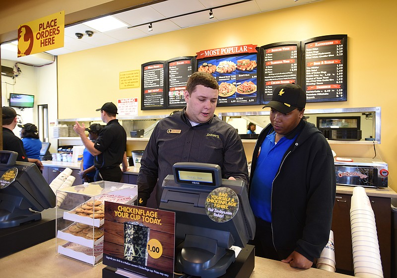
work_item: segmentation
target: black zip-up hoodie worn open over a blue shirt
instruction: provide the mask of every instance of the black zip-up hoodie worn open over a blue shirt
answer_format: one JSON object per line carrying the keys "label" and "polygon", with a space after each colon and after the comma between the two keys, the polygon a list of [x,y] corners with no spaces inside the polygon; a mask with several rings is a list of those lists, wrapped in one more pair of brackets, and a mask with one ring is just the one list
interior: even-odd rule
{"label": "black zip-up hoodie worn open over a blue shirt", "polygon": [[[255,145],[249,191],[260,146],[271,132],[273,128],[269,124]],[[330,235],[336,192],[335,166],[331,147],[315,125],[301,120],[286,137],[293,138],[297,133],[273,180],[273,244],[281,259],[297,251],[313,262],[320,257]]]}

